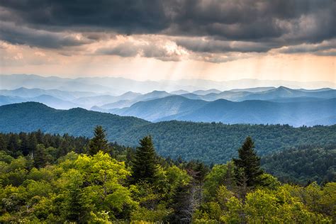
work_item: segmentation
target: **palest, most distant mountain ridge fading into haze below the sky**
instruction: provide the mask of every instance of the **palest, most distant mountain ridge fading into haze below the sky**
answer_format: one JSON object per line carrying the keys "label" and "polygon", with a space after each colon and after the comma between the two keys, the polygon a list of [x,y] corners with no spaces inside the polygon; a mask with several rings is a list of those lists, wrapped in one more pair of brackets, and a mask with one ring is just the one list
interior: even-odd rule
{"label": "palest, most distant mountain ridge fading into haze below the sky", "polygon": [[[62,77],[42,77],[35,74],[0,74],[0,89],[61,89],[65,91],[92,91],[99,94],[121,95],[127,91],[141,94],[150,91],[198,91],[217,89],[253,89],[263,86],[287,86],[291,89],[336,88],[332,82],[292,82],[283,80],[240,79],[233,81],[213,81],[206,79],[178,79],[159,81],[138,81],[121,77],[81,77],[75,79]],[[251,90],[250,90],[251,91]],[[216,92],[214,92],[216,93]],[[196,94],[199,94],[196,92]]]}

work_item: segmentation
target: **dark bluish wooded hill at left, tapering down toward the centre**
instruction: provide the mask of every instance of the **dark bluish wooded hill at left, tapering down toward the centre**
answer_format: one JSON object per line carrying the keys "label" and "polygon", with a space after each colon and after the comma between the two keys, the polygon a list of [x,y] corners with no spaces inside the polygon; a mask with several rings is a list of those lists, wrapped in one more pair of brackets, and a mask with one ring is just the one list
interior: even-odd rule
{"label": "dark bluish wooded hill at left, tapering down toward the centre", "polygon": [[116,128],[116,133],[122,134],[133,126],[148,123],[139,118],[86,111],[83,108],[57,110],[35,102],[0,106],[0,130],[4,132],[29,132],[41,129],[48,133],[91,136],[91,130],[96,125],[103,125],[107,130],[107,127]]}

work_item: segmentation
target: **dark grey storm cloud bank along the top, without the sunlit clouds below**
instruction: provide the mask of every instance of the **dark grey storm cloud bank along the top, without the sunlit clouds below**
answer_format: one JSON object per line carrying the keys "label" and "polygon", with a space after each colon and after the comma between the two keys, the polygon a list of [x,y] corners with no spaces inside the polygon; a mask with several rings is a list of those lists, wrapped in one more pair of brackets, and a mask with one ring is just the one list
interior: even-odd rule
{"label": "dark grey storm cloud bank along the top, without the sunlit clouds below", "polygon": [[[1,21],[16,23],[17,29],[91,32],[89,40],[101,37],[94,32],[206,37],[206,42],[178,40],[177,44],[196,52],[267,52],[274,47],[321,43],[336,37],[335,0],[0,0],[0,6]],[[43,35],[35,40],[35,33],[1,31],[1,38],[10,43],[51,47],[83,44],[60,36],[47,44]],[[15,33],[28,38],[14,38]],[[228,43],[235,40],[240,45]],[[123,56],[135,51],[118,48],[112,53]]]}

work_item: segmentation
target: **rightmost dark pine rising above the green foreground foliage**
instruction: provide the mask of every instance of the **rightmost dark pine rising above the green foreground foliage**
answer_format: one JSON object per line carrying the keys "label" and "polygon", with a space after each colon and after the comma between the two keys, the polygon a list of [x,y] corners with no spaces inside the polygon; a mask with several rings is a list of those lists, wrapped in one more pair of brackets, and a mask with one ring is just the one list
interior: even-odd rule
{"label": "rightmost dark pine rising above the green foreground foliage", "polygon": [[246,138],[244,144],[238,150],[238,154],[239,159],[233,159],[237,185],[245,181],[247,187],[260,184],[263,171],[260,168],[260,158],[254,151],[254,142],[250,136]]}

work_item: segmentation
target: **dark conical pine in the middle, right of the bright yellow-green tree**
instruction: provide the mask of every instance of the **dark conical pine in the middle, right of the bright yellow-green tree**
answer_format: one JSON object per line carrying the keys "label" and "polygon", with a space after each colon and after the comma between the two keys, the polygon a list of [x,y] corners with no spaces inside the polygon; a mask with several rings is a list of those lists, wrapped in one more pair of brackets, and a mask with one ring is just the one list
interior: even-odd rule
{"label": "dark conical pine in the middle, right of the bright yellow-green tree", "polygon": [[140,147],[135,151],[133,161],[133,181],[147,181],[152,183],[157,172],[157,161],[152,137],[146,136],[140,140]]}

